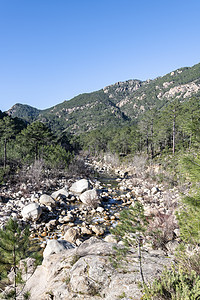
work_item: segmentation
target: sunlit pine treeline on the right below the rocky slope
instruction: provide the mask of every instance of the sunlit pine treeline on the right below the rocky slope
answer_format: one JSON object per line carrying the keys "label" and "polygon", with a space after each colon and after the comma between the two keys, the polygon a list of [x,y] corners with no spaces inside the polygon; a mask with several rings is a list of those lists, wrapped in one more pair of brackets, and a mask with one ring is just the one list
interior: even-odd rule
{"label": "sunlit pine treeline on the right below the rocky slope", "polygon": [[199,144],[200,101],[175,99],[161,109],[150,109],[137,124],[96,129],[80,136],[80,144],[92,154],[119,155],[146,152],[149,158],[166,152],[175,154]]}

